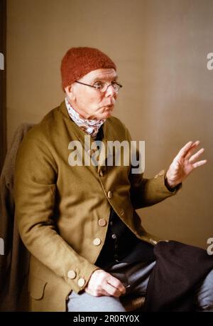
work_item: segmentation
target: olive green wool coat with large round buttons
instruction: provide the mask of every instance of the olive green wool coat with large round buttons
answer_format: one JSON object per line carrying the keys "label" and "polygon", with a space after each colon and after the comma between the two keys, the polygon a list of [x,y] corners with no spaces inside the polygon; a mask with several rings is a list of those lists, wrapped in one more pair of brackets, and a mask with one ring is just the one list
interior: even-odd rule
{"label": "olive green wool coat with large round buttons", "polygon": [[[105,148],[108,140],[131,141],[116,117],[104,122],[103,131]],[[144,179],[124,164],[104,166],[106,155],[100,154],[97,167],[71,166],[69,144],[78,140],[84,146],[85,135],[62,102],[27,132],[18,149],[15,217],[31,253],[32,311],[65,311],[70,291],[84,289],[97,269],[94,263],[104,245],[111,206],[138,238],[155,244],[158,239],[146,233],[135,209],[175,194],[165,186],[165,173]],[[91,152],[83,152],[87,155]]]}

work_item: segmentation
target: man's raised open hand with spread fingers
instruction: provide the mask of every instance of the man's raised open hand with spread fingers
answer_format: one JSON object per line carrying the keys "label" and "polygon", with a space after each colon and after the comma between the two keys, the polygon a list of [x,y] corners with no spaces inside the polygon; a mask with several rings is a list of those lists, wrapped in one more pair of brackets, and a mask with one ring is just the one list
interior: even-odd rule
{"label": "man's raised open hand with spread fingers", "polygon": [[201,167],[207,162],[206,159],[197,161],[200,155],[204,152],[204,148],[200,149],[195,154],[192,154],[199,144],[199,140],[196,142],[187,142],[187,144],[180,149],[180,152],[175,159],[173,159],[173,162],[170,164],[168,172],[166,173],[167,182],[171,188],[183,182],[183,180],[185,180],[187,176],[196,169],[196,167]]}

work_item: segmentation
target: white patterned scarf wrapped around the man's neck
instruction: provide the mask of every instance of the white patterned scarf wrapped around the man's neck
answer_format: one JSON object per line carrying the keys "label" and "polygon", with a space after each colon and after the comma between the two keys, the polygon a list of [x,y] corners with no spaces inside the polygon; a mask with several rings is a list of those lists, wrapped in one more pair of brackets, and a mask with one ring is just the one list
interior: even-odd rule
{"label": "white patterned scarf wrapped around the man's neck", "polygon": [[71,117],[71,119],[78,125],[84,132],[87,132],[88,135],[95,137],[99,132],[99,127],[103,125],[106,119],[102,120],[88,120],[84,119],[77,111],[73,109],[73,107],[68,102],[67,98],[65,98],[65,103],[67,107],[67,111]]}

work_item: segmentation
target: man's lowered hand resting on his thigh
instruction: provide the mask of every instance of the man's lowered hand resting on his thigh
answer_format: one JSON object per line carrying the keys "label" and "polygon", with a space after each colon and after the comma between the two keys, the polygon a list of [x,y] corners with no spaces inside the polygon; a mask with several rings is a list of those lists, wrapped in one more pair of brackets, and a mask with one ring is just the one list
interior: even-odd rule
{"label": "man's lowered hand resting on his thigh", "polygon": [[85,292],[94,297],[100,297],[102,295],[119,297],[121,294],[126,293],[126,288],[120,280],[114,278],[114,276],[104,270],[98,269],[92,273]]}

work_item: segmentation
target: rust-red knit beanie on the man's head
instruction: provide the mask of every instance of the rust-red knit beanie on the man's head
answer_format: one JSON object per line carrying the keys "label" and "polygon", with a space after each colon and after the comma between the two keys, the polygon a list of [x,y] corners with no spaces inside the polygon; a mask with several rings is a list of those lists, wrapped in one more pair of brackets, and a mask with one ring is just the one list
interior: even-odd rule
{"label": "rust-red knit beanie on the man's head", "polygon": [[61,62],[62,89],[71,85],[92,70],[100,68],[114,68],[116,65],[111,59],[97,48],[70,48]]}

